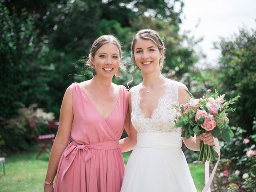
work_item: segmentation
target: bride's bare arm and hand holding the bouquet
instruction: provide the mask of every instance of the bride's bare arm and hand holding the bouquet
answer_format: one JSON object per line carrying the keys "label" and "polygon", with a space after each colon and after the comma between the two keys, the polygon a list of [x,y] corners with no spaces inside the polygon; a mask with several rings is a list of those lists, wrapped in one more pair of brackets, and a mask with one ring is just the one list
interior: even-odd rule
{"label": "bride's bare arm and hand holding the bouquet", "polygon": [[[184,84],[180,84],[179,88],[178,88],[178,102],[179,105],[181,104],[185,104],[187,102],[186,98],[190,98],[189,94],[185,91],[188,90],[188,88],[184,85]],[[183,131],[183,129],[182,129]],[[194,137],[190,137],[190,138],[186,138],[183,137],[182,138],[184,144],[186,145],[187,148],[189,148],[190,150],[193,151],[199,151],[200,150],[200,142],[201,140],[204,141],[204,144],[208,144],[209,146],[213,146],[214,142],[213,142],[213,137],[211,132],[209,133],[203,133],[200,135],[195,135]]]}

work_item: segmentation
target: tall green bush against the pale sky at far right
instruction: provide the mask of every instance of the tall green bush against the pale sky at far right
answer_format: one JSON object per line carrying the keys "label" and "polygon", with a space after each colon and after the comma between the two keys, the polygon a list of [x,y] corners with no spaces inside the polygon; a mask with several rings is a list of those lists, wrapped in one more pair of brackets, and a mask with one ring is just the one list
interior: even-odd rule
{"label": "tall green bush against the pale sky at far right", "polygon": [[252,122],[256,116],[256,30],[240,29],[232,40],[223,39],[219,48],[222,52],[220,59],[221,92],[228,97],[240,95],[239,102],[234,104],[234,118],[242,128],[252,132]]}

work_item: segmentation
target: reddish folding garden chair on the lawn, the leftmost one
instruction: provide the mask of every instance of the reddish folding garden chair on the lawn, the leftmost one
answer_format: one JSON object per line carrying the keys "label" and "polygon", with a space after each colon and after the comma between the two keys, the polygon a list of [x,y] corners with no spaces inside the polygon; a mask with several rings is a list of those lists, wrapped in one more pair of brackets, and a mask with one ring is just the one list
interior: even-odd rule
{"label": "reddish folding garden chair on the lawn, the leftmost one", "polygon": [[41,148],[36,158],[38,159],[40,154],[42,154],[42,152],[44,151],[50,154],[55,135],[54,134],[39,135],[36,129],[36,124],[34,122],[34,119],[26,118],[26,120],[29,122],[30,129],[32,131],[33,137],[37,142],[37,145]]}

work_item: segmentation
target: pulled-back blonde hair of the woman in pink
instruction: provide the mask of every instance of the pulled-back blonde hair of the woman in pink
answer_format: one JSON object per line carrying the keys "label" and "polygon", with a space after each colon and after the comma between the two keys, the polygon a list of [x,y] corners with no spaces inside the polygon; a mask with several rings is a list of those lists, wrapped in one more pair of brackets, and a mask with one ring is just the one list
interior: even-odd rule
{"label": "pulled-back blonde hair of the woman in pink", "polygon": [[[88,55],[88,57],[84,57],[84,61],[85,61],[85,65],[86,66],[88,66],[90,68],[93,68],[91,58],[94,58],[96,51],[102,45],[104,45],[106,43],[112,43],[112,44],[114,44],[118,48],[119,56],[120,56],[120,61],[121,61],[121,58],[122,58],[122,48],[121,48],[121,44],[118,41],[118,39],[116,37],[114,37],[113,35],[102,35],[102,36],[100,36],[99,38],[97,38],[93,42],[93,44],[91,46],[91,49],[90,49],[90,54]],[[120,62],[119,67],[121,69],[125,69],[125,66],[121,62]]]}

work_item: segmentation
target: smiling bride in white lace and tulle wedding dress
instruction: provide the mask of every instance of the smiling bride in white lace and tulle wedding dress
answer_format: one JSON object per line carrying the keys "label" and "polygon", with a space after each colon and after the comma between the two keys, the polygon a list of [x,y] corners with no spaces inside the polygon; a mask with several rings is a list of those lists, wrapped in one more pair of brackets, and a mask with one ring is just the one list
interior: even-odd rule
{"label": "smiling bride in white lace and tulle wedding dress", "polygon": [[186,103],[187,87],[161,74],[164,42],[150,29],[140,30],[132,40],[132,57],[143,81],[128,93],[129,137],[120,140],[122,152],[132,150],[124,174],[121,192],[196,192],[186,158],[184,144],[200,150],[200,141],[214,145],[209,134],[181,138],[182,128],[174,128],[174,104]]}

